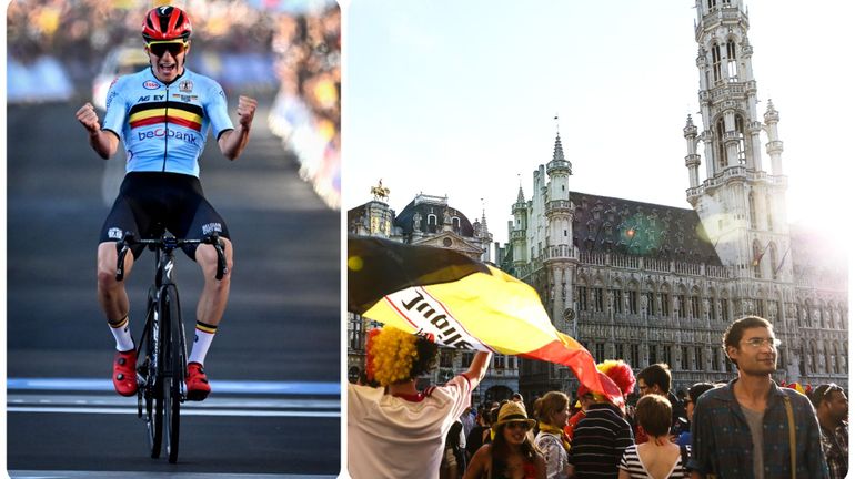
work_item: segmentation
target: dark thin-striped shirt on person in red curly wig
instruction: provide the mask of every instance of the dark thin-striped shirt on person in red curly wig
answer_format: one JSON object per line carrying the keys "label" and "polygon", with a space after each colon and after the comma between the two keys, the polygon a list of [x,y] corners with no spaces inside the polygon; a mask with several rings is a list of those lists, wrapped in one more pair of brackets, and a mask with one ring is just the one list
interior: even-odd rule
{"label": "dark thin-striped shirt on person in red curly wig", "polygon": [[617,465],[624,450],[632,445],[632,427],[621,411],[600,402],[591,405],[576,425],[567,460],[580,479],[616,479]]}

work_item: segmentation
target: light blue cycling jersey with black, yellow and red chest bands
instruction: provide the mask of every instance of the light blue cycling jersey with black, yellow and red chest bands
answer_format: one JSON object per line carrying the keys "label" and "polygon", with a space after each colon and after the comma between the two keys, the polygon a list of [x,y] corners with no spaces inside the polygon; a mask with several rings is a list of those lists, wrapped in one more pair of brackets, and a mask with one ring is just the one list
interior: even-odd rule
{"label": "light blue cycling jersey with black, yellow and red chest bands", "polygon": [[209,130],[232,130],[225,93],[208,77],[184,73],[165,84],[151,68],[120,77],[107,94],[103,130],[115,133],[128,153],[128,172],[199,176],[199,155]]}

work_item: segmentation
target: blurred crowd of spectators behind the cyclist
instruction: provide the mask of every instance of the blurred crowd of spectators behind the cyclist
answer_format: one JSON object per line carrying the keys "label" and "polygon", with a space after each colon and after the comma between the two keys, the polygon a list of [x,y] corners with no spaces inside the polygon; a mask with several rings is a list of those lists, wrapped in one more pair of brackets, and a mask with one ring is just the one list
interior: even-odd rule
{"label": "blurred crowd of spectators behind the cyclist", "polygon": [[[129,41],[141,42],[144,13],[157,4],[167,2],[14,0],[7,9],[9,61],[27,67],[43,58],[56,59],[77,90],[89,94],[107,53]],[[214,52],[219,61],[259,54],[269,59],[274,78],[261,84],[271,85],[271,96],[275,94],[271,129],[300,160],[301,176],[328,205],[338,208],[341,14],[335,1],[187,0],[173,4],[190,14],[197,51]],[[229,90],[230,85],[223,86]]]}

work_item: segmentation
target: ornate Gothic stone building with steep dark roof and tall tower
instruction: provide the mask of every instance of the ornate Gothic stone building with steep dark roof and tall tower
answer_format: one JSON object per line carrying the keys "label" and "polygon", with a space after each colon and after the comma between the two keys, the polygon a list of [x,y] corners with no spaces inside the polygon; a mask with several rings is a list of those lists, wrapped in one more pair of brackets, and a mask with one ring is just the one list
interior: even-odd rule
{"label": "ornate Gothic stone building with steep dark roof and tall tower", "polygon": [[[667,363],[675,389],[734,377],[721,337],[748,314],[783,340],[778,381],[846,387],[846,261],[787,223],[779,116],[771,101],[762,116],[755,109],[747,11],[742,0],[696,9],[701,125],[690,115],[683,130],[692,208],[571,191],[556,135],[532,197],[521,187],[512,205],[501,266],[537,289],[555,326],[597,361],[622,358],[636,371]],[[521,365],[529,398],[576,386],[566,367]]]}

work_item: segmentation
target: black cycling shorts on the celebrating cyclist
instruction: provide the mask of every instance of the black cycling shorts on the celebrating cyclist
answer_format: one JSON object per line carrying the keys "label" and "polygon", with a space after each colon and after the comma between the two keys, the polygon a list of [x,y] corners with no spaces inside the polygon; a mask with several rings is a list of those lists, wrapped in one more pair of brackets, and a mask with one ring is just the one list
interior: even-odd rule
{"label": "black cycling shorts on the celebrating cyclist", "polygon": [[[182,240],[201,240],[213,232],[229,237],[225,222],[204,198],[198,177],[160,172],[125,174],[101,227],[100,242],[118,242],[127,232],[140,240],[155,240],[167,230]],[[143,248],[134,247],[133,257],[138,258]],[[195,259],[195,245],[183,249]]]}

